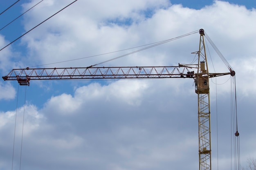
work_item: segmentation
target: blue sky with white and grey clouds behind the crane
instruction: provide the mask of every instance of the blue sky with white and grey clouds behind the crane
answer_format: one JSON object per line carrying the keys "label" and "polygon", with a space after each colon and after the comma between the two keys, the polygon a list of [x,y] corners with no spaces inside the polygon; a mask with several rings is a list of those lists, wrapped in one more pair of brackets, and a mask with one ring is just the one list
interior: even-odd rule
{"label": "blue sky with white and grey clouds behind the crane", "polygon": [[[0,12],[14,2],[1,1]],[[17,2],[0,15],[0,49],[71,2]],[[236,71],[240,161],[246,167],[247,158],[256,158],[253,0],[78,0],[2,49],[0,73],[5,76],[13,68],[27,66],[86,67],[141,47],[130,48],[199,29],[204,29]],[[195,33],[99,66],[189,64],[199,38]],[[110,54],[100,55],[104,53]],[[211,73],[229,72],[209,42],[207,53]],[[232,81],[226,75],[210,84],[213,169],[234,168]],[[1,80],[0,104],[0,170],[199,167],[197,94],[192,79],[34,80],[29,87]]]}

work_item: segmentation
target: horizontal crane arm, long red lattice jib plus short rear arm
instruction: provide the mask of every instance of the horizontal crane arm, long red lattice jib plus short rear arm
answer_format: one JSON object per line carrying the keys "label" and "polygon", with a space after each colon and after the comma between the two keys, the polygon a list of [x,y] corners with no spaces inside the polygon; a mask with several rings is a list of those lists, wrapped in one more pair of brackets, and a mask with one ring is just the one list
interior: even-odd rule
{"label": "horizontal crane arm, long red lattice jib plus short rear arm", "polygon": [[[84,68],[23,68],[13,69],[4,80],[17,80],[29,85],[30,80],[47,79],[146,79],[146,78],[195,78],[195,66],[132,66]],[[192,71],[193,70],[193,71]],[[230,73],[213,73],[211,77]]]}

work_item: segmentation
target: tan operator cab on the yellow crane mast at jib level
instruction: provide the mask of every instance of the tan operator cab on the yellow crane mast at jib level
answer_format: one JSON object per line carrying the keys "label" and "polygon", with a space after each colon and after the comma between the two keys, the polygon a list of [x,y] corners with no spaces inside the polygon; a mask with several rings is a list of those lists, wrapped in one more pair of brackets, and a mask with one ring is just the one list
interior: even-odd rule
{"label": "tan operator cab on the yellow crane mast at jib level", "polygon": [[200,73],[195,77],[195,93],[209,94],[209,77],[204,62],[200,62]]}

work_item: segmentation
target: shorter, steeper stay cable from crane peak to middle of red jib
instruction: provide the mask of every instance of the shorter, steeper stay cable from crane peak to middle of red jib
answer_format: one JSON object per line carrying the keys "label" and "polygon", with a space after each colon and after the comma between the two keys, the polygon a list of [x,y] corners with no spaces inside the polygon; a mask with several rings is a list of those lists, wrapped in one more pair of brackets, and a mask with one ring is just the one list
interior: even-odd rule
{"label": "shorter, steeper stay cable from crane peak to middle of red jib", "polygon": [[[159,42],[159,43],[157,43],[157,44],[154,44],[154,45],[145,47],[145,48],[143,48],[143,49],[139,49],[139,50],[137,50],[137,51],[132,51],[132,52],[127,53],[127,54],[124,54],[124,55],[120,55],[120,56],[118,56],[118,57],[112,58],[112,59],[110,59],[110,60],[106,60],[106,61],[104,61],[104,62],[100,62],[100,63],[98,63],[98,64],[94,64],[94,65],[92,65],[92,66],[97,66],[97,65],[99,65],[99,64],[103,64],[103,63],[106,63],[106,62],[110,62],[110,61],[112,61],[112,60],[116,60],[116,59],[118,59],[118,58],[125,57],[125,56],[127,56],[127,55],[130,55],[130,54],[133,54],[133,53],[137,53],[137,52],[139,52],[139,51],[143,51],[143,50],[146,50],[146,49],[150,49],[150,48],[152,48],[152,47],[155,47],[155,46],[158,46],[158,45],[161,45],[161,44],[164,44],[164,43],[173,41],[173,40],[177,40],[177,39],[179,39],[179,38],[182,38],[182,37],[185,37],[185,36],[188,36],[188,35],[197,33],[197,32],[198,32],[198,30],[197,30],[197,31],[193,31],[193,32],[191,32],[191,33],[187,33],[187,34],[181,35],[181,36],[176,37],[176,38],[171,38],[171,39],[168,39],[168,40],[164,40],[164,41]],[[92,66],[89,66],[89,67],[92,67]]]}

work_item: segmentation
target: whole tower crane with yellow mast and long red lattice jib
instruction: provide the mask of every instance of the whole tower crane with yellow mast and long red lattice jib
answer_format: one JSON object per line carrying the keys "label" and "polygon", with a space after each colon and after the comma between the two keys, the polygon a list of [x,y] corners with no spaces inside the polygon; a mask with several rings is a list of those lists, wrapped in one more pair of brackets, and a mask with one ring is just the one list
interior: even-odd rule
{"label": "whole tower crane with yellow mast and long red lattice jib", "polygon": [[[209,78],[222,75],[235,75],[229,68],[228,73],[209,73],[204,30],[200,29],[198,64],[179,64],[178,66],[125,66],[125,67],[76,67],[76,68],[23,68],[13,69],[4,80],[17,80],[20,85],[28,85],[30,80],[54,79],[153,79],[153,78],[191,78],[195,82],[198,95],[198,139],[199,170],[211,170],[211,129]],[[236,134],[237,135],[237,134]]]}

